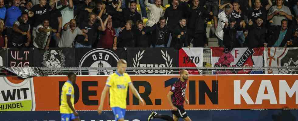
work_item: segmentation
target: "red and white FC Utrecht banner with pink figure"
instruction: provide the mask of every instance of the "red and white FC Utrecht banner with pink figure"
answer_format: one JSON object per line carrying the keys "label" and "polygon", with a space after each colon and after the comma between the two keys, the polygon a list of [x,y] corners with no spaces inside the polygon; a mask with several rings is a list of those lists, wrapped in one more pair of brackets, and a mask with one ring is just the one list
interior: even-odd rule
{"label": "red and white FC Utrecht banner with pink figure", "polygon": [[[213,67],[262,67],[264,48],[233,48],[228,52],[223,47],[211,47]],[[218,74],[250,74],[250,70],[217,72]]]}

